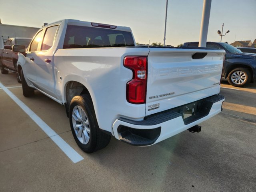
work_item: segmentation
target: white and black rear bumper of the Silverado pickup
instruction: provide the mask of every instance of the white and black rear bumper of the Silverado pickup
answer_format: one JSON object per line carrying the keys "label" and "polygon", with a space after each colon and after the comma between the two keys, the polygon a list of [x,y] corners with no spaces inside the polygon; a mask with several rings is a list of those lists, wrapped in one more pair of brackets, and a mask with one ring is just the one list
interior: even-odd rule
{"label": "white and black rear bumper of the Silverado pickup", "polygon": [[[222,111],[224,96],[218,94],[145,117],[142,121],[118,118],[113,124],[116,139],[136,146],[150,146],[187,130]],[[194,107],[193,115],[184,118]],[[188,110],[186,110],[188,109]],[[192,109],[191,109],[192,111]]]}

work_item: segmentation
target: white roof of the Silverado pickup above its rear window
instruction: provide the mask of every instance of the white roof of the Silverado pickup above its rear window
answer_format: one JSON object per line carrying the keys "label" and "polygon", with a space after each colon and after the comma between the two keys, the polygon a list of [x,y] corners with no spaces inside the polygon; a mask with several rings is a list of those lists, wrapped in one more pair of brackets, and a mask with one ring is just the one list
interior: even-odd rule
{"label": "white roof of the Silverado pickup above its rear window", "polygon": [[[75,19],[63,19],[59,20],[53,23],[50,23],[44,27],[50,26],[55,23],[63,22],[64,24],[69,24],[69,25],[79,25],[79,26],[88,26],[88,27],[99,27],[93,24],[102,24],[102,23],[97,23],[97,22],[88,22],[88,21],[80,21],[80,20],[75,20]],[[125,26],[116,26],[116,25],[111,25],[111,24],[102,24],[104,26],[111,26],[110,29],[112,30],[120,30],[120,31],[127,31],[127,32],[132,32],[130,27],[125,27]],[[44,28],[42,27],[42,28]],[[112,28],[113,27],[113,28]],[[101,28],[101,27],[99,27]]]}

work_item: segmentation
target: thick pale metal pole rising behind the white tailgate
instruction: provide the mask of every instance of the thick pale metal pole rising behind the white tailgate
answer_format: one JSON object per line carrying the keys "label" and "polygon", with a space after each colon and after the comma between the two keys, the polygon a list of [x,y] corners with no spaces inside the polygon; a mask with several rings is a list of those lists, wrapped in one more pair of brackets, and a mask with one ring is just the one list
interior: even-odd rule
{"label": "thick pale metal pole rising behind the white tailgate", "polygon": [[200,36],[199,36],[199,45],[198,45],[199,47],[206,47],[211,4],[212,4],[212,0],[204,0],[201,29],[200,29]]}

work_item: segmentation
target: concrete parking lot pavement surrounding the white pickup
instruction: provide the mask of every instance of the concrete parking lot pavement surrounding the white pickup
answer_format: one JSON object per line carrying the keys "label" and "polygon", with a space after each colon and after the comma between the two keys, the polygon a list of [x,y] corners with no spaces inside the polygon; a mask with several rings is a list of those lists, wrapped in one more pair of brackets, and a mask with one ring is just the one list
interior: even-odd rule
{"label": "concrete parking lot pavement surrounding the white pickup", "polygon": [[[13,74],[0,74],[0,82],[20,86]],[[228,105],[200,124],[200,133],[185,131],[150,147],[112,138],[93,154],[76,145],[64,106],[9,88],[84,158],[77,163],[0,89],[0,191],[255,192],[256,115],[249,110],[256,108],[256,84],[233,88],[222,84]]]}

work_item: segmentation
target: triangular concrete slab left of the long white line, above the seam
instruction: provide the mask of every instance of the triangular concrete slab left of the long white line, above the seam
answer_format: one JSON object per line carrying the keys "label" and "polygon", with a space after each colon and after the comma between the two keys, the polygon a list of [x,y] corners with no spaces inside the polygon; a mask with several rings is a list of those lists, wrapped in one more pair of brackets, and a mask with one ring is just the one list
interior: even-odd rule
{"label": "triangular concrete slab left of the long white line, above the seam", "polygon": [[45,138],[40,128],[24,114],[12,99],[0,90],[0,151]]}

